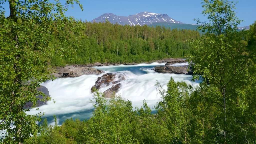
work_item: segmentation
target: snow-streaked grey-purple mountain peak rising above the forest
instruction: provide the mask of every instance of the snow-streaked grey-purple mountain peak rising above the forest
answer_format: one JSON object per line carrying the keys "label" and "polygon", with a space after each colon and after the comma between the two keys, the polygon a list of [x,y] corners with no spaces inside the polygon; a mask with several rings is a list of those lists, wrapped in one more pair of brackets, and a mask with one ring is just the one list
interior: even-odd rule
{"label": "snow-streaked grey-purple mountain peak rising above the forest", "polygon": [[135,15],[130,16],[118,16],[114,15],[112,13],[105,13],[98,18],[93,19],[91,22],[105,22],[105,20],[108,20],[110,23],[115,24],[118,23],[120,25],[150,25],[152,23],[178,23],[178,24],[184,24],[180,21],[177,21],[171,17],[169,17],[167,14],[156,14],[156,13],[150,13],[150,12],[141,12]]}

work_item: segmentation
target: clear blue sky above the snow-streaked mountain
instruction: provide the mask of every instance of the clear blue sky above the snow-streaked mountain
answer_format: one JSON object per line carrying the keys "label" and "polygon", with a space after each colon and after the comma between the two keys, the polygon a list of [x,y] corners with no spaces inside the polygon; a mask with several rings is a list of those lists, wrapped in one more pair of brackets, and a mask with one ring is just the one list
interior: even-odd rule
{"label": "clear blue sky above the snow-streaked mountain", "polygon": [[[65,2],[65,0],[61,1]],[[201,0],[80,0],[80,3],[83,5],[83,11],[78,5],[69,6],[66,15],[82,21],[91,21],[104,13],[129,16],[140,12],[152,12],[167,14],[186,24],[195,24],[194,18],[207,21],[206,17],[202,15]],[[5,7],[8,8],[8,6]],[[236,8],[237,17],[244,20],[239,26],[249,26],[254,23],[256,20],[256,0],[239,0]]]}

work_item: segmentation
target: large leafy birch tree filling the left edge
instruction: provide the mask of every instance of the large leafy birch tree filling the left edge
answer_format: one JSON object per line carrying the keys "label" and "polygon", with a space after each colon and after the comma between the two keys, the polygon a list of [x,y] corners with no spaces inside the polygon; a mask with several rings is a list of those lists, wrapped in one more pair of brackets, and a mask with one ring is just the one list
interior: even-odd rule
{"label": "large leafy birch tree filling the left edge", "polygon": [[[2,5],[5,0],[1,0]],[[4,143],[23,143],[25,138],[38,132],[36,121],[42,113],[27,115],[23,106],[33,102],[36,107],[36,96],[42,95],[36,88],[50,79],[47,73],[48,60],[56,53],[70,52],[71,45],[76,43],[73,35],[65,27],[70,23],[79,23],[67,18],[64,13],[69,4],[79,2],[68,0],[65,5],[59,1],[8,1],[10,16],[5,17],[5,9],[0,11],[0,129]],[[80,5],[82,8],[82,6]],[[70,30],[79,32],[79,24]],[[64,44],[70,37],[73,43],[63,49],[50,45],[55,36]],[[78,43],[77,43],[78,44]],[[77,45],[72,45],[74,48]]]}

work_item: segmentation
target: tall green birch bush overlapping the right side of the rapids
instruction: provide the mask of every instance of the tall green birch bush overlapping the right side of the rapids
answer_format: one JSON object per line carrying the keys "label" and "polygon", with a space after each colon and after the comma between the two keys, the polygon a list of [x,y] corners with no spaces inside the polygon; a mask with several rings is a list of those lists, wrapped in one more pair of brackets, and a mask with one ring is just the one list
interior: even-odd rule
{"label": "tall green birch bush overlapping the right side of the rapids", "polygon": [[[169,139],[173,143],[195,143],[190,139],[191,115],[188,109],[191,90],[185,82],[175,82],[170,78],[167,91],[157,83],[156,88],[162,99],[156,104],[157,119],[169,131]],[[192,138],[192,137],[191,137]]]}

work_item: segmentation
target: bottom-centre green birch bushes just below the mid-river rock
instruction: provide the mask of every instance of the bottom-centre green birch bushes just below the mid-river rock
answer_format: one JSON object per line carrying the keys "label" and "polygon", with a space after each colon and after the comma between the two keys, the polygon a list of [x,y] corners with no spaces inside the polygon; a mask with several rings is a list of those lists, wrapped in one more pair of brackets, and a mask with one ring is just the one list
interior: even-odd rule
{"label": "bottom-centre green birch bushes just below the mid-river rock", "polygon": [[116,96],[107,104],[100,92],[94,94],[94,99],[95,110],[88,121],[90,139],[93,140],[90,143],[133,143],[131,101]]}

